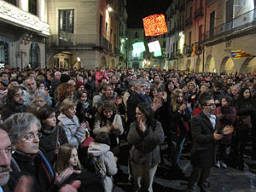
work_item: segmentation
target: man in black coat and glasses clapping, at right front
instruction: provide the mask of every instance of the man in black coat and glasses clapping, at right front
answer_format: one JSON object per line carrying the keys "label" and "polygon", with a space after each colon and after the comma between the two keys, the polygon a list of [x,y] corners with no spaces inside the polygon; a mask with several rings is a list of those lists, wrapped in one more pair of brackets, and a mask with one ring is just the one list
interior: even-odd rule
{"label": "man in black coat and glasses clapping, at right front", "polygon": [[194,146],[191,149],[191,164],[193,170],[190,175],[187,192],[195,192],[197,183],[201,192],[207,192],[207,178],[211,167],[216,161],[216,147],[218,140],[234,131],[232,125],[227,125],[221,131],[218,119],[213,114],[216,108],[212,96],[201,96],[202,111],[191,120],[191,133]]}

